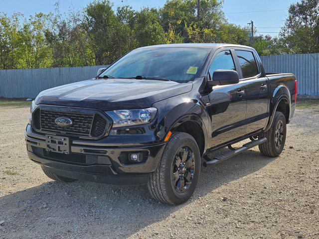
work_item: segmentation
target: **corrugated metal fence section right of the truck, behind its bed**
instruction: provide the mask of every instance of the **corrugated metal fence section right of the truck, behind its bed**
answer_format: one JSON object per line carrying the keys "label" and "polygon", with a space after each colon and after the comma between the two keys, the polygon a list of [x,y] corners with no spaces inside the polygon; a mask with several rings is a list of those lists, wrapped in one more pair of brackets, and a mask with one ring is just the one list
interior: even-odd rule
{"label": "corrugated metal fence section right of the truck, behind its bed", "polygon": [[261,56],[266,72],[294,73],[298,94],[319,96],[319,53]]}

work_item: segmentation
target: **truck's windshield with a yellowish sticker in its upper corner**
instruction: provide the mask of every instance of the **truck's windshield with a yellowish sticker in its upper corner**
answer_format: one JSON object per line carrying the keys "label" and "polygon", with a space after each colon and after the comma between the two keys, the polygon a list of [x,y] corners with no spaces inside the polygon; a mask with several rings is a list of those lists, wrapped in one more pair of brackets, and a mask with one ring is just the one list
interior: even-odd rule
{"label": "truck's windshield with a yellowish sticker in its upper corner", "polygon": [[195,79],[209,52],[210,49],[206,48],[136,49],[115,62],[100,77],[143,76],[185,83]]}

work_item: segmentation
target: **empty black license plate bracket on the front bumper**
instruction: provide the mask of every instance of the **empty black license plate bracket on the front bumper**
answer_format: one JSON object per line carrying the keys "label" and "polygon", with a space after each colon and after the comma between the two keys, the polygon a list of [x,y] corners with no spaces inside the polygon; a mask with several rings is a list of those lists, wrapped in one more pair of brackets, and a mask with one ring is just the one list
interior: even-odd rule
{"label": "empty black license plate bracket on the front bumper", "polygon": [[45,135],[45,149],[49,152],[70,153],[70,143],[68,137],[61,137],[56,135]]}

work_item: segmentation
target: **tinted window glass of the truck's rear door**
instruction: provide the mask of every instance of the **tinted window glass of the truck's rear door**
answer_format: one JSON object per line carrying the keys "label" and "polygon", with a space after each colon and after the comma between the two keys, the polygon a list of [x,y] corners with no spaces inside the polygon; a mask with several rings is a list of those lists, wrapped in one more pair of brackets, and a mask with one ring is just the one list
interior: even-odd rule
{"label": "tinted window glass of the truck's rear door", "polygon": [[251,51],[236,50],[236,54],[238,56],[244,78],[257,76],[259,74],[256,60]]}

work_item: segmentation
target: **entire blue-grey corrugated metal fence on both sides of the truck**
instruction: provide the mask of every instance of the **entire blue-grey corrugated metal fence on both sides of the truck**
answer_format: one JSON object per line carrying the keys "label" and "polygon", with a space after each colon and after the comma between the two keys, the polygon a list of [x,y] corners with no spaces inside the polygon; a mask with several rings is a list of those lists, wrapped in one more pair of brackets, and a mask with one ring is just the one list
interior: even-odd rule
{"label": "entire blue-grey corrugated metal fence on both sides of the truck", "polygon": [[[261,56],[266,72],[294,73],[298,94],[319,96],[319,53]],[[88,80],[103,66],[0,70],[0,97],[35,98],[43,90]]]}

